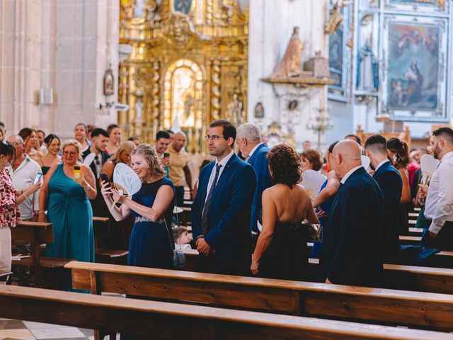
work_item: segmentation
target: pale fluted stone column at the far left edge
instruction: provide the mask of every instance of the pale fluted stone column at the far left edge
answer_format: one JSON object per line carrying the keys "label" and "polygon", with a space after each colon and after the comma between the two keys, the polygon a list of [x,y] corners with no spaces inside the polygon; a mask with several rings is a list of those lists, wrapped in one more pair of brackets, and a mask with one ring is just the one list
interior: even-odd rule
{"label": "pale fluted stone column at the far left edge", "polygon": [[38,123],[41,1],[0,1],[0,120],[10,133]]}

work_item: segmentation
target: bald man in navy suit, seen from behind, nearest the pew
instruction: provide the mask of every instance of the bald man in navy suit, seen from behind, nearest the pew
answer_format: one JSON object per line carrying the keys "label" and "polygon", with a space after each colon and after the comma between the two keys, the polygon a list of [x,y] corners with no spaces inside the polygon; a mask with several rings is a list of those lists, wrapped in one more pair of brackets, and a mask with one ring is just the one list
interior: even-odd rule
{"label": "bald man in navy suit, seen from behind, nearest the pew", "polygon": [[360,145],[343,140],[333,148],[340,189],[323,230],[321,266],[326,283],[378,285],[382,276],[384,198],[365,171]]}

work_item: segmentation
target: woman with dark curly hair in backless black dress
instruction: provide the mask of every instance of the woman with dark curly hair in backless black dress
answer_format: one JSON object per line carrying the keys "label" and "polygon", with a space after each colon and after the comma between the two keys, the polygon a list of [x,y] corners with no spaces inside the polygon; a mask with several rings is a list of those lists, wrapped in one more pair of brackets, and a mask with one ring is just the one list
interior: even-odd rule
{"label": "woman with dark curly hair in backless black dress", "polygon": [[309,194],[300,181],[299,157],[287,145],[268,153],[274,186],[263,192],[260,236],[252,256],[251,271],[265,278],[302,280],[309,251],[308,231],[302,221],[319,223]]}

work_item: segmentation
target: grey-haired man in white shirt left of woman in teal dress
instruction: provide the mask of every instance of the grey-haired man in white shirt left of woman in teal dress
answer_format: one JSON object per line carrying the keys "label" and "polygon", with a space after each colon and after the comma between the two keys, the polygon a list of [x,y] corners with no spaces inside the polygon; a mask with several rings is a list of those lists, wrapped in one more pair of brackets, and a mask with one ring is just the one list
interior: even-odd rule
{"label": "grey-haired man in white shirt left of woman in teal dress", "polygon": [[[8,166],[6,170],[9,171],[9,174],[11,175],[14,188],[16,188],[17,191],[22,192],[33,184],[36,175],[42,172],[42,170],[38,163],[33,161],[33,159],[28,157],[28,154],[23,152],[25,148],[21,136],[12,135],[8,137],[8,142],[16,147],[16,157],[14,157],[12,166]],[[40,181],[42,181],[42,179],[40,179]],[[19,210],[21,210],[21,220],[31,220],[33,211],[40,210],[38,202],[39,196],[40,191],[36,191],[33,195],[23,201],[21,205],[19,205]]]}

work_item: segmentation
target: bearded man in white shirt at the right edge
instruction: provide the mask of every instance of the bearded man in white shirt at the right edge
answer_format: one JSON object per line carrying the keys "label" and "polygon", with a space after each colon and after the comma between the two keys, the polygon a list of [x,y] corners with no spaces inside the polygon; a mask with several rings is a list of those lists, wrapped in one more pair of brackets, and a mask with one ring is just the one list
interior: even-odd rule
{"label": "bearded man in white shirt at the right edge", "polygon": [[422,244],[441,250],[453,250],[453,130],[432,132],[431,148],[440,165],[432,175],[425,203],[429,231]]}

